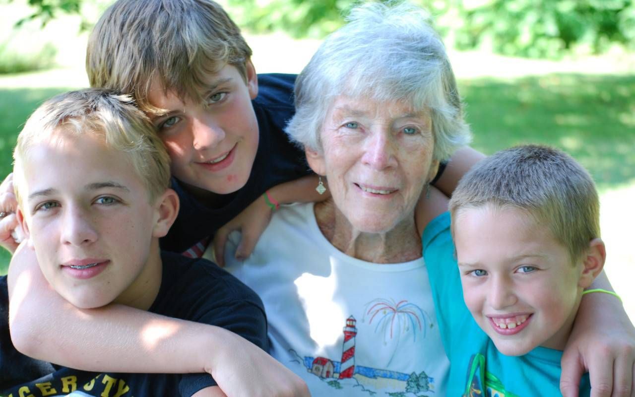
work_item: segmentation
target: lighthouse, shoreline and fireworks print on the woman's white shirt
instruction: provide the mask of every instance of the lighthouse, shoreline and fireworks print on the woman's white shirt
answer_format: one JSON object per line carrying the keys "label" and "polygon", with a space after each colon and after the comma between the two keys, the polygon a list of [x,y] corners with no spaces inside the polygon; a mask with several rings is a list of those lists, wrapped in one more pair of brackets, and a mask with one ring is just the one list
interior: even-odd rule
{"label": "lighthouse, shoreline and fireworks print on the woman's white shirt", "polygon": [[[376,300],[385,302],[385,300]],[[373,305],[373,303],[375,303]],[[403,303],[400,302],[400,303]],[[406,302],[407,303],[407,302]],[[382,303],[383,304],[383,303]],[[373,301],[368,306],[370,309],[365,310],[365,314],[373,314],[373,307],[378,304]],[[398,304],[391,305],[391,307],[398,307]],[[384,310],[385,312],[385,310]],[[377,313],[384,313],[377,311]],[[411,320],[410,326],[423,330],[425,335],[425,326],[429,325],[429,317],[420,311],[420,316],[415,316]],[[385,320],[386,324],[390,325],[389,329],[382,328],[382,321]],[[370,316],[369,323],[377,323],[376,330],[387,333],[388,337],[392,337],[393,333],[398,331],[410,331],[409,328],[403,326],[396,330],[396,320],[394,316],[386,317],[385,319],[377,318],[373,315]],[[368,330],[368,327],[364,328]],[[429,377],[424,371],[403,373],[391,371],[387,368],[373,368],[368,365],[371,363],[363,363],[356,361],[356,336],[358,335],[357,320],[354,316],[349,316],[344,324],[342,330],[344,333],[344,340],[342,342],[342,354],[340,357],[313,357],[313,356],[298,356],[295,351],[290,351],[294,354],[298,361],[304,364],[307,372],[319,377],[326,382],[333,389],[344,389],[346,387],[355,387],[357,391],[367,391],[368,395],[375,395],[380,393],[381,395],[395,396],[395,397],[410,397],[410,396],[432,396],[434,395],[434,379]],[[421,335],[420,337],[424,337]],[[366,364],[366,365],[364,365]],[[360,389],[361,388],[361,389]],[[425,394],[422,394],[425,393]]]}

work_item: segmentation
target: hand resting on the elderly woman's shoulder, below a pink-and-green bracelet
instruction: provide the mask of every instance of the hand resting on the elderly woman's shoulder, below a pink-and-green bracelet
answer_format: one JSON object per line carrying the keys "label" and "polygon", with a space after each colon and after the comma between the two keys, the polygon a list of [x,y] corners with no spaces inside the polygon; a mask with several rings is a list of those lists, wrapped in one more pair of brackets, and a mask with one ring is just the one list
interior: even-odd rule
{"label": "hand resting on the elderly woman's shoulder, below a pink-and-green bracelet", "polygon": [[213,246],[216,263],[220,267],[225,266],[225,243],[227,236],[235,230],[241,231],[241,241],[236,248],[236,259],[246,259],[253,252],[258,239],[265,231],[271,220],[272,210],[264,197],[260,196],[251,203],[236,218],[230,220],[223,227],[218,229],[214,236]]}

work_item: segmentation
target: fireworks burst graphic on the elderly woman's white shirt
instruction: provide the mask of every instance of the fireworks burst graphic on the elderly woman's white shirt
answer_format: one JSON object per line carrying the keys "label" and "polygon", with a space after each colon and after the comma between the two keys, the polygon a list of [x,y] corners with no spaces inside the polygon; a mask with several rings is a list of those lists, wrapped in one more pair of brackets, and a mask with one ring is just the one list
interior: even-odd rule
{"label": "fireworks burst graphic on the elderly woman's white shirt", "polygon": [[413,334],[415,340],[417,340],[417,333],[423,333],[425,338],[427,327],[432,326],[430,316],[408,300],[399,302],[392,299],[371,300],[364,307],[362,321],[365,321],[367,316],[370,316],[368,324],[375,321],[375,332],[384,333],[384,337],[390,335],[390,339],[399,333],[409,332]]}

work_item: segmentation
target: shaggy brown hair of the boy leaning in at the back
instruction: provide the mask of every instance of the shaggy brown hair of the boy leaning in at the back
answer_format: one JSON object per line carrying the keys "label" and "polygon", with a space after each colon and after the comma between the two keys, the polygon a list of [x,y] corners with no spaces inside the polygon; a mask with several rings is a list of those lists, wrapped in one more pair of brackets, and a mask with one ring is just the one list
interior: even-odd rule
{"label": "shaggy brown hair of the boy leaning in at the back", "polygon": [[93,87],[147,101],[153,79],[181,98],[203,101],[205,75],[225,64],[246,81],[251,48],[220,5],[211,0],[117,0],[88,40],[86,72]]}

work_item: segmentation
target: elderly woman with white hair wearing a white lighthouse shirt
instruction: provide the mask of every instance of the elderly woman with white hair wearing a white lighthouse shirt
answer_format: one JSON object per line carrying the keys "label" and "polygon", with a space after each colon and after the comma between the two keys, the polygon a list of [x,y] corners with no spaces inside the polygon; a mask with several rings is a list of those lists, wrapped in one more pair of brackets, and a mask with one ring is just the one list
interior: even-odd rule
{"label": "elderly woman with white hair wearing a white lighthouse shirt", "polygon": [[288,133],[331,198],[276,212],[249,259],[234,258],[238,236],[225,255],[264,301],[272,355],[314,396],[445,395],[421,236],[445,211],[429,182],[469,129],[425,20],[368,4],[324,41]]}

